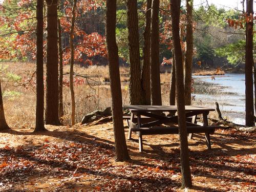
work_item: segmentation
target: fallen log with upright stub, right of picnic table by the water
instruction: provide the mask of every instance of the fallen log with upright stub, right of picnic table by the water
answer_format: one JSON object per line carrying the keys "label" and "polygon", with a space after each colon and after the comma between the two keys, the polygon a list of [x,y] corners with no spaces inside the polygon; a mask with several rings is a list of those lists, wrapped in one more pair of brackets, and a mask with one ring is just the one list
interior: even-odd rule
{"label": "fallen log with upright stub, right of picnic table by the water", "polygon": [[209,118],[209,120],[211,120],[215,124],[228,126],[228,127],[231,127],[233,129],[236,129],[236,130],[241,131],[241,132],[255,132],[256,131],[256,126],[248,127],[248,126],[245,126],[245,125],[236,124],[236,123],[233,123],[233,122],[228,121],[226,119],[223,119],[222,115],[221,115],[220,108],[219,108],[219,103],[216,102],[215,104],[216,104],[216,111],[218,113],[219,120]]}

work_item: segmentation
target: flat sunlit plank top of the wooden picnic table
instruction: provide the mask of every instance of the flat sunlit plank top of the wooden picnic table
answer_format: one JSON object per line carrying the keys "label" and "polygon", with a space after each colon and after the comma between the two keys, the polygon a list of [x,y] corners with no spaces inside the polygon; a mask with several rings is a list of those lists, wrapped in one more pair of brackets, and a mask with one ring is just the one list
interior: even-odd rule
{"label": "flat sunlit plank top of the wooden picnic table", "polygon": [[[126,105],[125,106],[131,112],[176,112],[177,105]],[[208,106],[192,106],[192,105],[185,105],[186,112],[209,112],[215,111],[214,108],[209,108]]]}

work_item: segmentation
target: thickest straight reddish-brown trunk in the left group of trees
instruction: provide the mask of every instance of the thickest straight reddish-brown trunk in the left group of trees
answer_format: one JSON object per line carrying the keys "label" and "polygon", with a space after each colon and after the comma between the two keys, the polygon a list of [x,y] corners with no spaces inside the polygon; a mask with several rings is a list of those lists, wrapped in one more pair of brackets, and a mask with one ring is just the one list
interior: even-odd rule
{"label": "thickest straight reddish-brown trunk in the left group of trees", "polygon": [[59,125],[57,0],[47,3],[46,124]]}

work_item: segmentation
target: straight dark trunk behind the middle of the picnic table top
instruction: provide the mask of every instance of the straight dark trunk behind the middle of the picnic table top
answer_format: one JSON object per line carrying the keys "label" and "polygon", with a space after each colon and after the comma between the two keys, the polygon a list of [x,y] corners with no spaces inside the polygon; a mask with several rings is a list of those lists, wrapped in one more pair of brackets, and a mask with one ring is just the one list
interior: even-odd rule
{"label": "straight dark trunk behind the middle of the picnic table top", "polygon": [[162,105],[159,62],[159,0],[153,0],[152,3],[151,101],[153,105]]}

